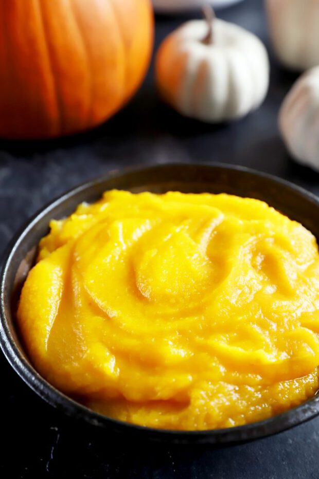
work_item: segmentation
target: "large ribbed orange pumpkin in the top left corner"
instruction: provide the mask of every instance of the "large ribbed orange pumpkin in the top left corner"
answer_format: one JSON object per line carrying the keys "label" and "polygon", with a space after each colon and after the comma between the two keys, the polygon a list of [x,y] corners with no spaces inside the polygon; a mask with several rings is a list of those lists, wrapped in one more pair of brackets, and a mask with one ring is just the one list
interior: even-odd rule
{"label": "large ribbed orange pumpkin in the top left corner", "polygon": [[52,138],[112,116],[149,64],[149,0],[1,0],[0,136]]}

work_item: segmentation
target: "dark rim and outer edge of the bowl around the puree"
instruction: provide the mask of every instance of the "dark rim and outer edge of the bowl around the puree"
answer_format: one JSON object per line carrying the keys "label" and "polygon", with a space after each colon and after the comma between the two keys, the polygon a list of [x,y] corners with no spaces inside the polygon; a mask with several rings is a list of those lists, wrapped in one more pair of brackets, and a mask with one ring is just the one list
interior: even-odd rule
{"label": "dark rim and outer edge of the bowl around the puree", "polygon": [[170,162],[160,165],[137,165],[134,167],[112,170],[107,175],[97,177],[90,181],[85,181],[79,186],[69,189],[34,213],[13,236],[5,250],[0,269],[0,346],[6,359],[12,366],[13,370],[22,378],[22,380],[31,388],[33,392],[37,393],[51,406],[63,411],[68,416],[82,419],[85,422],[100,428],[112,428],[114,431],[125,434],[138,434],[141,436],[141,438],[146,439],[169,441],[170,443],[179,444],[209,443],[214,445],[228,446],[277,434],[279,432],[291,429],[300,423],[304,423],[310,419],[313,419],[315,416],[319,415],[319,395],[315,395],[306,402],[286,412],[243,426],[196,431],[167,430],[138,426],[129,422],[99,414],[83,406],[74,399],[66,396],[64,393],[57,390],[54,386],[47,382],[36,371],[36,369],[34,369],[32,364],[28,362],[27,359],[21,354],[20,349],[16,345],[16,342],[10,332],[9,321],[6,317],[6,283],[10,265],[14,258],[15,252],[27,234],[35,225],[37,225],[44,215],[49,213],[51,210],[54,210],[55,207],[63,204],[63,202],[70,197],[76,196],[77,194],[86,190],[90,191],[90,189],[96,187],[97,185],[103,184],[105,181],[111,179],[116,180],[117,178],[119,179],[120,177],[129,173],[154,172],[156,170],[166,169],[172,166],[181,169],[197,167],[209,170],[224,169],[247,173],[257,176],[260,179],[263,178],[269,180],[279,187],[285,186],[291,190],[292,193],[298,193],[299,195],[310,200],[315,207],[319,208],[319,198],[317,198],[313,193],[294,185],[294,183],[268,173],[256,171],[251,168],[242,167],[240,165],[223,164],[220,162],[214,162],[210,164]]}

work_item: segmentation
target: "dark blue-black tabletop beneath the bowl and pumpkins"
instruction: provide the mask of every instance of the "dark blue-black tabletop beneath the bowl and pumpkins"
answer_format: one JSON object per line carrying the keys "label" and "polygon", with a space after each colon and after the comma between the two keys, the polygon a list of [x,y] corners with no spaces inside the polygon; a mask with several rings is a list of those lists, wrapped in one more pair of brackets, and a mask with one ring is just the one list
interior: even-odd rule
{"label": "dark blue-black tabletop beneath the bowl and pumpkins", "polygon": [[[51,198],[127,165],[236,163],[319,194],[319,175],[293,163],[278,134],[278,108],[296,76],[273,58],[262,1],[245,0],[219,15],[254,31],[269,48],[271,85],[262,107],[232,125],[187,120],[158,100],[151,67],[133,101],[94,132],[42,143],[0,141],[2,251],[25,220]],[[158,17],[156,45],[185,19]],[[228,449],[136,444],[85,428],[53,410],[24,385],[2,354],[0,374],[0,475],[4,479],[319,478],[319,418],[275,437]]]}

